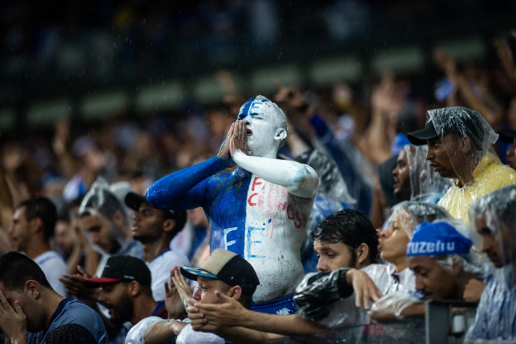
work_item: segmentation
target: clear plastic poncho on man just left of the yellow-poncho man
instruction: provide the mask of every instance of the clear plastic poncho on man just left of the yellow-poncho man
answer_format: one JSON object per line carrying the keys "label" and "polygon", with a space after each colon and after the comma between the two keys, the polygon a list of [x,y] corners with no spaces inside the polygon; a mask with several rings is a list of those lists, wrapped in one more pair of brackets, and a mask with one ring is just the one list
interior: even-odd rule
{"label": "clear plastic poncho on man just left of the yellow-poncho man", "polygon": [[449,181],[434,172],[426,159],[428,145],[404,146],[409,166],[410,200],[436,204],[446,193]]}

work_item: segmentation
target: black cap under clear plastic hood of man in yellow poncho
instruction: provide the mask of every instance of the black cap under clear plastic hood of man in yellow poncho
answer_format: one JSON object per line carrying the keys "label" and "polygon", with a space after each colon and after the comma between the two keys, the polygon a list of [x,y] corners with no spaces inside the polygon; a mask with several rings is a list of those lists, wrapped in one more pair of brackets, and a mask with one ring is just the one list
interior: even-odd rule
{"label": "black cap under clear plastic hood of man in yellow poncho", "polygon": [[436,118],[443,121],[443,123],[439,123],[442,125],[442,136],[446,134],[463,135],[463,127],[455,125],[457,121],[450,120],[453,117],[462,121],[467,128],[466,136],[470,136],[479,144],[482,143],[483,131],[482,124],[480,123],[481,114],[477,111],[462,106],[454,106],[428,110],[427,114],[430,115],[429,117],[432,118],[432,121],[428,121],[423,129],[415,130],[415,132],[407,134],[410,143],[421,146],[427,144],[427,140],[439,138],[440,135],[437,133],[436,127],[433,124],[433,120]]}

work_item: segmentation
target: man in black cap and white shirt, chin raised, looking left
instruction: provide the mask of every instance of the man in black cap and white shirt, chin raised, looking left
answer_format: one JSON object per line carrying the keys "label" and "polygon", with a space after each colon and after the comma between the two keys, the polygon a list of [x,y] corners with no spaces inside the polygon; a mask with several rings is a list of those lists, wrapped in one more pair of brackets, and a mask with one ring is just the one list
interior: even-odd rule
{"label": "man in black cap and white shirt, chin raised, looking left", "polygon": [[125,196],[125,204],[136,211],[132,227],[133,237],[143,244],[143,261],[151,270],[154,300],[165,300],[165,281],[174,266],[188,265],[181,253],[170,250],[170,240],[181,231],[186,222],[184,210],[160,210],[134,192]]}

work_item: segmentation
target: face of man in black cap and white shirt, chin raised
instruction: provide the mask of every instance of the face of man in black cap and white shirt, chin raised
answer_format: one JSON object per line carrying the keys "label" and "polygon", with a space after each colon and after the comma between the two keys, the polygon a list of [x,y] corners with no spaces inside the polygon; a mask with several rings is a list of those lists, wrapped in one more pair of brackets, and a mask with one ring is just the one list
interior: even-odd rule
{"label": "face of man in black cap and white shirt, chin raised", "polygon": [[133,237],[139,241],[156,240],[163,235],[163,210],[142,203],[134,216]]}

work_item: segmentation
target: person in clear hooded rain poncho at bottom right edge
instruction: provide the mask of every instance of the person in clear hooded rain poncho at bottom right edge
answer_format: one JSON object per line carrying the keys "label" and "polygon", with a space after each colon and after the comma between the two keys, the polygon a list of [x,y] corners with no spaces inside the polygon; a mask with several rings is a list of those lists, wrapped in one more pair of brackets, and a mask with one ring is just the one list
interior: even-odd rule
{"label": "person in clear hooded rain poncho at bottom right edge", "polygon": [[[483,196],[470,209],[472,237],[492,271],[465,342],[516,342],[516,186]],[[481,234],[481,235],[480,235]],[[493,264],[494,263],[494,264]]]}

